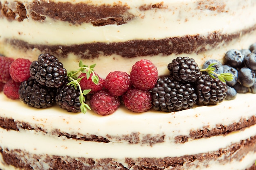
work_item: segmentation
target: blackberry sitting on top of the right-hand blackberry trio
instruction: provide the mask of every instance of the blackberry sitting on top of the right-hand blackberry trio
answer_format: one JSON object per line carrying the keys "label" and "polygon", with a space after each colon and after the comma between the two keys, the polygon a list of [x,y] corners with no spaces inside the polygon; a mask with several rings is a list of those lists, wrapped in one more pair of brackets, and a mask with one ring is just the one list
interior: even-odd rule
{"label": "blackberry sitting on top of the right-hand blackberry trio", "polygon": [[168,64],[171,77],[176,81],[195,82],[200,76],[200,68],[194,59],[177,57]]}

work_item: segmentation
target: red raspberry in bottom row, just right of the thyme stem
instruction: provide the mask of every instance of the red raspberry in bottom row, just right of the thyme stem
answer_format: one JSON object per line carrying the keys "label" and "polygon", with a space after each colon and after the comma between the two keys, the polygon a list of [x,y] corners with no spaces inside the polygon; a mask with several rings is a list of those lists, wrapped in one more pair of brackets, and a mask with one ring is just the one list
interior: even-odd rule
{"label": "red raspberry in bottom row, just right of the thyme stem", "polygon": [[120,106],[120,98],[111,96],[106,91],[99,91],[90,98],[91,108],[99,115],[110,115],[114,113]]}

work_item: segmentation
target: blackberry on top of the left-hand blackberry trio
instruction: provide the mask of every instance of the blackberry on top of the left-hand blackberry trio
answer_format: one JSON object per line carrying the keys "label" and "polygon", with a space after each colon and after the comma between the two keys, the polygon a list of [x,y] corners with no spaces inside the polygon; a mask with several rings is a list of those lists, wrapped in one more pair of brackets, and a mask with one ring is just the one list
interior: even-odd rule
{"label": "blackberry on top of the left-hand blackberry trio", "polygon": [[47,87],[61,87],[67,80],[67,70],[58,59],[48,53],[40,54],[38,61],[30,65],[30,76],[41,85]]}

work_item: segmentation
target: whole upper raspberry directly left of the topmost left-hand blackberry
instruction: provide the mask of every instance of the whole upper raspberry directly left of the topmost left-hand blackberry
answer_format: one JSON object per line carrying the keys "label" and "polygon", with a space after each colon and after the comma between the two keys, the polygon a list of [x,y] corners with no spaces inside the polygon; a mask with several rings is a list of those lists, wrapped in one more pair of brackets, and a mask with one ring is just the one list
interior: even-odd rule
{"label": "whole upper raspberry directly left of the topmost left-hand blackberry", "polygon": [[29,67],[31,65],[31,61],[27,59],[15,59],[10,66],[10,75],[11,78],[16,82],[22,82],[29,79]]}

